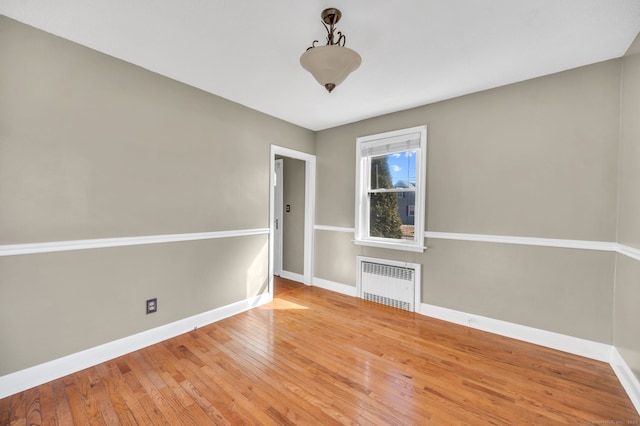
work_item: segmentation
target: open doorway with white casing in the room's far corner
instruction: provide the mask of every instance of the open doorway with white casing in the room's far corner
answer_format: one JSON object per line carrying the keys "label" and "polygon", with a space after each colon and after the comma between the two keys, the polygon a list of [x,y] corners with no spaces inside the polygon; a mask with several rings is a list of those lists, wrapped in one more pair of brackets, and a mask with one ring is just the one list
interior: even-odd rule
{"label": "open doorway with white casing in the room's far corner", "polygon": [[[315,155],[271,145],[269,184],[271,236],[269,238],[269,294],[271,297],[273,297],[274,274],[306,285],[312,283],[315,169]],[[287,268],[295,271],[288,271]]]}

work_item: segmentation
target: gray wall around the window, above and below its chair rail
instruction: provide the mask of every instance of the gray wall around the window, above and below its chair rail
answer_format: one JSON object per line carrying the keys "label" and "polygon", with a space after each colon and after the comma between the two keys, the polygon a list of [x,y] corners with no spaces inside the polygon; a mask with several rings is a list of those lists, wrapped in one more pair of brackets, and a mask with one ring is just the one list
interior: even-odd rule
{"label": "gray wall around the window, above and below its chair rail", "polygon": [[[619,60],[319,132],[316,223],[354,226],[355,140],[428,125],[428,231],[615,241]],[[336,190],[339,188],[340,190]],[[423,265],[424,303],[612,343],[610,252],[429,239],[425,253],[316,231],[318,278],[355,255]]]}

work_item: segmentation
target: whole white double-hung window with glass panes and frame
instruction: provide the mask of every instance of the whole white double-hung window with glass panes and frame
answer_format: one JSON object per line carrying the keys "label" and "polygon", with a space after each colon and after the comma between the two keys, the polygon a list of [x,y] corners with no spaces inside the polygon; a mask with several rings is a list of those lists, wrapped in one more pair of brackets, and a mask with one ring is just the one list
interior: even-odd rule
{"label": "whole white double-hung window with glass panes and frame", "polygon": [[355,243],[424,251],[427,127],[356,143]]}

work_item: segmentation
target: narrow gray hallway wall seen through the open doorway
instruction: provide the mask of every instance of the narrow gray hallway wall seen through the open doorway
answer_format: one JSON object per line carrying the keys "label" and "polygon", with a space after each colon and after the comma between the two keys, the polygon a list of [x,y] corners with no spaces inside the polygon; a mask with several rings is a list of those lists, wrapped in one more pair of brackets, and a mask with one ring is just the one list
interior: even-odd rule
{"label": "narrow gray hallway wall seen through the open doorway", "polygon": [[282,269],[303,275],[305,162],[288,157],[283,160]]}

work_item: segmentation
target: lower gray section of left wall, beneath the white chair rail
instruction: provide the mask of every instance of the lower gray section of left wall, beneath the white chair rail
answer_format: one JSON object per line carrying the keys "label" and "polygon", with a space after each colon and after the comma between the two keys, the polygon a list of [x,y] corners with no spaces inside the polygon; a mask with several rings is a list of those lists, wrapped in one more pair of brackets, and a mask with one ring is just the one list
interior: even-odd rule
{"label": "lower gray section of left wall, beneath the white chair rail", "polygon": [[257,235],[0,257],[0,375],[261,294],[267,256]]}

